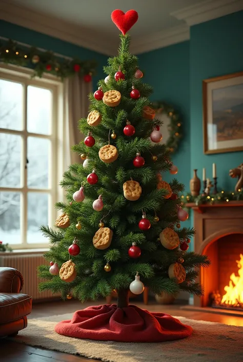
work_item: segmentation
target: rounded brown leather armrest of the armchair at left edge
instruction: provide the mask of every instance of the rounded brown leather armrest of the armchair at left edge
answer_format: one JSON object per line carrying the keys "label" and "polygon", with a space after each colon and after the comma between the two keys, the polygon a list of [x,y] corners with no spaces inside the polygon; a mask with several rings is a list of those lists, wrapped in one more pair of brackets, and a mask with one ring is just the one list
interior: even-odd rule
{"label": "rounded brown leather armrest of the armchair at left edge", "polygon": [[0,293],[19,293],[24,285],[24,279],[14,268],[0,268]]}

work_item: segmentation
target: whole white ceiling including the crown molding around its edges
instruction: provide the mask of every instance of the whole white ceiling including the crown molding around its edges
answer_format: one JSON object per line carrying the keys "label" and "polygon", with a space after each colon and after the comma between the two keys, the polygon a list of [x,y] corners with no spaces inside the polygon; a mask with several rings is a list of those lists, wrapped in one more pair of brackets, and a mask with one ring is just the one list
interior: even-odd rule
{"label": "whole white ceiling including the crown molding around its edges", "polygon": [[190,38],[190,26],[243,9],[243,0],[0,0],[0,19],[114,55],[119,30],[111,12],[134,9],[131,52]]}

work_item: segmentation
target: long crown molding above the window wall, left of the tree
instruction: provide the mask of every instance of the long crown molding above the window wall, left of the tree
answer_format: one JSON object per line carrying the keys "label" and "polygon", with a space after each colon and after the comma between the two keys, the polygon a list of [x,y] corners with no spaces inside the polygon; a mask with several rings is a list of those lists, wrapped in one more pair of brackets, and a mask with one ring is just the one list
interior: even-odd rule
{"label": "long crown molding above the window wall, left of the tree", "polygon": [[16,5],[10,0],[0,0],[0,19],[105,55],[113,55],[117,50],[115,41],[108,42],[100,34]]}

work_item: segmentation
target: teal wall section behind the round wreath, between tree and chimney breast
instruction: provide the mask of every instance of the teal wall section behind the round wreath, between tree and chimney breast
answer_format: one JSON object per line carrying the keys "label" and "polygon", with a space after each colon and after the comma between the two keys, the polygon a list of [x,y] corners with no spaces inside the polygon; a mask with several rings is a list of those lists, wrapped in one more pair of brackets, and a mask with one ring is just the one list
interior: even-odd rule
{"label": "teal wall section behind the round wreath, between tree and chimney breast", "polygon": [[[179,111],[183,120],[184,137],[173,156],[178,174],[167,173],[164,179],[170,181],[176,177],[186,188],[191,178],[189,56],[189,41],[138,55],[140,69],[145,71],[144,81],[153,86],[150,99],[168,102]],[[184,222],[183,226],[190,226],[190,221]]]}

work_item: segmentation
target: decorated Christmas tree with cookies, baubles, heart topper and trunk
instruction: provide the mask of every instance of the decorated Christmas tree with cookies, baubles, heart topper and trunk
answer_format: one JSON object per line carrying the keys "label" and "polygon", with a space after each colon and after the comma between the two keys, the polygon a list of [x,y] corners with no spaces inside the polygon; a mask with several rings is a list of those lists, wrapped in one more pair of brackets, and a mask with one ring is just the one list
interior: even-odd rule
{"label": "decorated Christmas tree with cookies, baubles, heart topper and trunk", "polygon": [[116,11],[112,19],[123,32],[118,55],[108,59],[107,77],[89,96],[88,118],[79,122],[87,137],[73,151],[84,163],[70,165],[61,181],[67,202],[56,204],[62,211],[57,230],[42,226],[51,267],[40,266],[39,275],[46,279],[40,291],[84,302],[115,290],[117,307],[127,308],[129,289],[140,294],[144,285],[154,294],[201,295],[195,268],[209,261],[185,253],[194,230],[180,226],[188,218],[179,198],[183,185],[163,181],[161,175],[176,174],[177,167],[160,142],[161,121],[148,99],[152,88],[129,52],[126,30],[137,13],[130,11],[127,24],[129,12]]}

